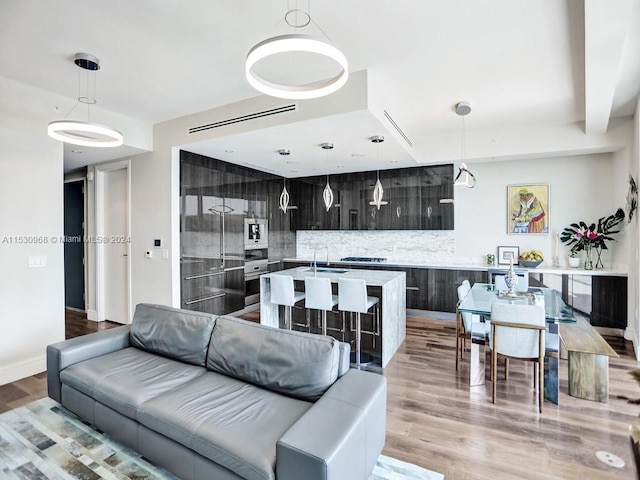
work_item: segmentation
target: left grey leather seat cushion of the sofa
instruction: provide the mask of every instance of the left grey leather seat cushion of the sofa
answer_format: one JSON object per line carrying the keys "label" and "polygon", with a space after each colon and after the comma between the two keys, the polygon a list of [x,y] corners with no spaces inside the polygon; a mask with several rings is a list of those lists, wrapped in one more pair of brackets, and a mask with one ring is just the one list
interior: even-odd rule
{"label": "left grey leather seat cushion of the sofa", "polygon": [[135,419],[144,401],[180,387],[205,372],[203,367],[128,347],[71,365],[62,370],[60,380]]}

